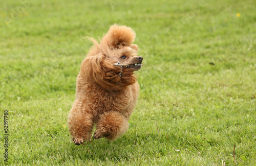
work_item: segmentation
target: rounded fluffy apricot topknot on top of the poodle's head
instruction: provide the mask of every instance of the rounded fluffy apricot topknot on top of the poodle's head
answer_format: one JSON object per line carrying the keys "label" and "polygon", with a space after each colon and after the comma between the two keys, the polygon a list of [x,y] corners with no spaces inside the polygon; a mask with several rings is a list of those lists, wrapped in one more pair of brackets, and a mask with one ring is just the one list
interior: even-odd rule
{"label": "rounded fluffy apricot topknot on top of the poodle's head", "polygon": [[101,40],[102,46],[108,45],[111,49],[120,49],[123,46],[131,46],[136,37],[136,33],[126,26],[113,25],[108,33]]}

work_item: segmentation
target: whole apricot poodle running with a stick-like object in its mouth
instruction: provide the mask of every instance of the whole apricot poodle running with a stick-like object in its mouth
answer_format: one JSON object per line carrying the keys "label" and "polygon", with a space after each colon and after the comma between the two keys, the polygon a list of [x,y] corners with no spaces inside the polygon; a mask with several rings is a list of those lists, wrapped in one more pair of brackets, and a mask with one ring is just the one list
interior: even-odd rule
{"label": "whole apricot poodle running with a stick-like object in its mouth", "polygon": [[129,117],[139,96],[134,71],[141,68],[138,45],[132,44],[135,32],[126,26],[113,25],[81,62],[76,79],[76,95],[68,124],[75,145],[93,138],[111,141],[128,129]]}

